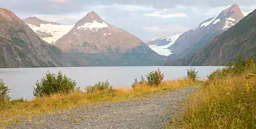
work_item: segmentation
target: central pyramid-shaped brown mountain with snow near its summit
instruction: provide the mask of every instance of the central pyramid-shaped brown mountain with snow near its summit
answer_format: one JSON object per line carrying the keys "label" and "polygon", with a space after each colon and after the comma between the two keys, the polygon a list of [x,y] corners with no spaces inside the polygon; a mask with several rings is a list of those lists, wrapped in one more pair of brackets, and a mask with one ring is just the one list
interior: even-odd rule
{"label": "central pyramid-shaped brown mountain with snow near its summit", "polygon": [[158,65],[163,61],[141,39],[106,23],[96,12],[79,20],[55,45],[77,66]]}

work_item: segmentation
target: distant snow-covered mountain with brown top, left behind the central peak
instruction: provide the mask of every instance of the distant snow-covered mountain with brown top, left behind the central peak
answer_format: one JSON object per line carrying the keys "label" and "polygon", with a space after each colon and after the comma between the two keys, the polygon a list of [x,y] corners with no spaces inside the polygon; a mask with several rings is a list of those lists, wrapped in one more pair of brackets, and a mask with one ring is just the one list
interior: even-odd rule
{"label": "distant snow-covered mountain with brown top, left behind the central peak", "polygon": [[46,22],[36,17],[29,17],[23,20],[29,27],[44,41],[55,43],[57,39],[66,35],[74,25],[63,25],[55,22]]}

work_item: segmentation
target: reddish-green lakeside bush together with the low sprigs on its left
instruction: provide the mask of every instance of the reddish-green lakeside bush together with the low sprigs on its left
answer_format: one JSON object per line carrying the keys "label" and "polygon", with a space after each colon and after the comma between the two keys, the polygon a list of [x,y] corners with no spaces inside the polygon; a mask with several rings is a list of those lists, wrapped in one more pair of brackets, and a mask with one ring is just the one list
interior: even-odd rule
{"label": "reddish-green lakeside bush together with the low sprigs on its left", "polygon": [[141,81],[138,81],[137,78],[134,79],[134,83],[132,84],[132,88],[138,85],[147,84],[149,86],[158,86],[162,83],[164,79],[164,74],[158,69],[158,71],[152,71],[146,75],[147,81],[145,81],[144,77],[141,76]]}

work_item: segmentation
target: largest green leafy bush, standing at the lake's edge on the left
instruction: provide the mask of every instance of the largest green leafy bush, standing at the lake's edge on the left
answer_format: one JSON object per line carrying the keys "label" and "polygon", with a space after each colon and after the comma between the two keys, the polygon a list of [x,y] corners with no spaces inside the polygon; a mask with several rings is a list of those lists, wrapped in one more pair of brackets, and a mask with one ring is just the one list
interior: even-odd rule
{"label": "largest green leafy bush, standing at the lake's edge on the left", "polygon": [[35,86],[34,96],[49,96],[56,93],[68,94],[74,90],[79,90],[76,88],[76,81],[62,75],[61,71],[57,74],[48,71],[46,77],[43,77],[40,83],[37,81]]}

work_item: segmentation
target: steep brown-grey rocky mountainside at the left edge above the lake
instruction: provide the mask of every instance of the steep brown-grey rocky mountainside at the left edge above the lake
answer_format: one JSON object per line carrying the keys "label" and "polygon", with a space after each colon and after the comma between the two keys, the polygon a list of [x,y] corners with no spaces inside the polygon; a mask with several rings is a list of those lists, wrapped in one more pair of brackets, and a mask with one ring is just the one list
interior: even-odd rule
{"label": "steep brown-grey rocky mountainside at the left edge above the lake", "polygon": [[61,67],[61,50],[40,39],[13,12],[0,8],[0,67]]}

